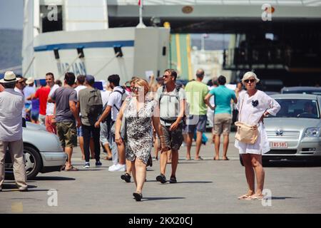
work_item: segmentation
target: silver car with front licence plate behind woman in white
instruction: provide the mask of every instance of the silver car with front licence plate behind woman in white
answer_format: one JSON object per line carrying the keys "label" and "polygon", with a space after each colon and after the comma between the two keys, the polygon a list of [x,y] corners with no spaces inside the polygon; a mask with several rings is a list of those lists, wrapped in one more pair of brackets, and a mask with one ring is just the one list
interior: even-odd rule
{"label": "silver car with front licence plate behind woman in white", "polygon": [[295,159],[321,161],[320,95],[271,95],[280,103],[276,116],[265,118],[271,150],[263,160]]}

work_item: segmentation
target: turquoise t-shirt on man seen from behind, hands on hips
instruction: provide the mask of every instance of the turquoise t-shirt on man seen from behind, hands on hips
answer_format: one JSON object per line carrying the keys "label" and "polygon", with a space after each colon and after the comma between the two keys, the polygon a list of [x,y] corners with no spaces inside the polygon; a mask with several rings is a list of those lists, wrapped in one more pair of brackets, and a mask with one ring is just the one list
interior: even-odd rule
{"label": "turquoise t-shirt on man seen from behind, hands on hips", "polygon": [[215,114],[230,113],[230,100],[235,99],[235,92],[226,86],[218,86],[210,90],[210,94],[214,95]]}

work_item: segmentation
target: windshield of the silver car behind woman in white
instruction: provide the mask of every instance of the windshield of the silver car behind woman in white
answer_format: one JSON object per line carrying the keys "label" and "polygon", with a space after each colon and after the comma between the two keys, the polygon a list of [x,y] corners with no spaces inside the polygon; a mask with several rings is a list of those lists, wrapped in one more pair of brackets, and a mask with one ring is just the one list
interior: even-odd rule
{"label": "windshield of the silver car behind woman in white", "polygon": [[320,118],[317,100],[275,99],[281,109],[276,116],[270,118]]}

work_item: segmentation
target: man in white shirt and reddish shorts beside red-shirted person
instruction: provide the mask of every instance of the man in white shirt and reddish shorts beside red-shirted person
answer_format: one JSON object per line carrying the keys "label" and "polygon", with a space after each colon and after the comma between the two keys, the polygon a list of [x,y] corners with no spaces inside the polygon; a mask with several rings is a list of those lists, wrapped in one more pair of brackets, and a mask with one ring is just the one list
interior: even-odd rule
{"label": "man in white shirt and reddish shorts beside red-shirted person", "polygon": [[[47,86],[50,87],[49,97],[54,94],[55,90],[59,88],[57,84],[55,84],[55,76],[54,73],[46,73],[46,83]],[[55,104],[49,103],[47,101],[47,108],[46,108],[46,119],[45,119],[45,125],[46,130],[49,133],[57,133],[56,125],[52,123],[52,120],[54,119],[54,110],[55,110]]]}

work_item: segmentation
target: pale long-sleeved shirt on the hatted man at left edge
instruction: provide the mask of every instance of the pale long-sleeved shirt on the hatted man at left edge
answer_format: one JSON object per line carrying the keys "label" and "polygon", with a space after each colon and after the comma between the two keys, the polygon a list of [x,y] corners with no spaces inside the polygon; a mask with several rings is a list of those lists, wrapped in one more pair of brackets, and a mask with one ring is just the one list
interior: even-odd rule
{"label": "pale long-sleeved shirt on the hatted man at left edge", "polygon": [[14,142],[22,138],[24,96],[13,88],[0,93],[0,141]]}

